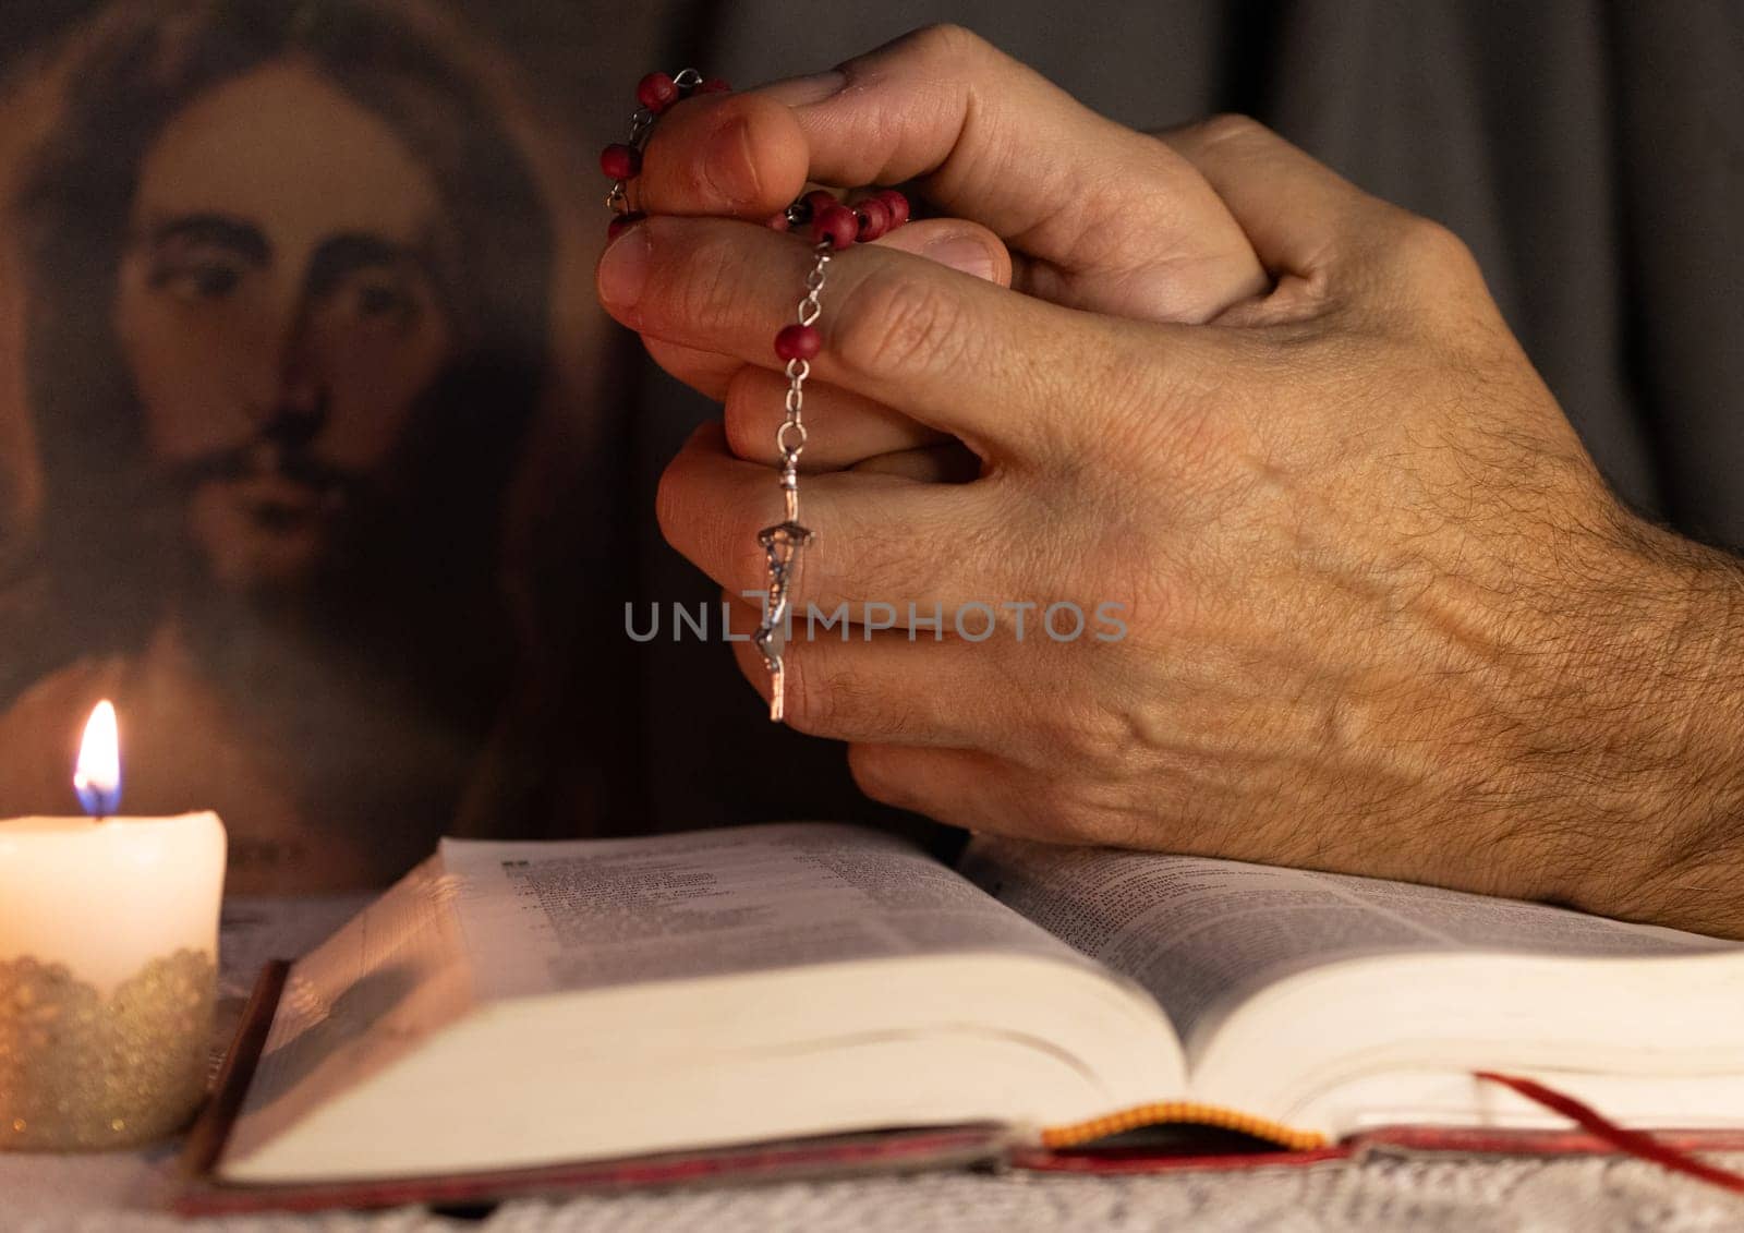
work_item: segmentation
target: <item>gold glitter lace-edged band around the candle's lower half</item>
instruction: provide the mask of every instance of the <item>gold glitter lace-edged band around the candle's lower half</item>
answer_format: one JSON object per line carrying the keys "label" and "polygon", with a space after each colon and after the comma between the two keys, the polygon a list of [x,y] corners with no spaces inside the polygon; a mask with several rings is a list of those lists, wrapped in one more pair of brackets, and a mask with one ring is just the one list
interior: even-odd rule
{"label": "gold glitter lace-edged band around the candle's lower half", "polygon": [[134,1148],[187,1125],[216,982],[202,950],[152,959],[108,998],[59,963],[0,959],[0,1149]]}

